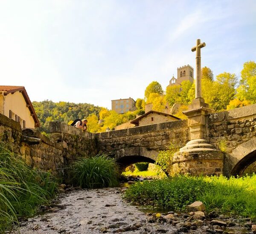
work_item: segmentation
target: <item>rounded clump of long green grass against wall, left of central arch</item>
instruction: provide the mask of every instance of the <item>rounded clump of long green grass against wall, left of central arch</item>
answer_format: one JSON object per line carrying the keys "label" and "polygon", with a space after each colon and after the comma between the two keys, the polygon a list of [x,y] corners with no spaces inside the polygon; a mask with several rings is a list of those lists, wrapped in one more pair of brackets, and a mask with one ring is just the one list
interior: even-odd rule
{"label": "rounded clump of long green grass against wall, left of central arch", "polygon": [[81,188],[103,188],[118,185],[118,166],[105,154],[80,158],[70,168],[72,181]]}

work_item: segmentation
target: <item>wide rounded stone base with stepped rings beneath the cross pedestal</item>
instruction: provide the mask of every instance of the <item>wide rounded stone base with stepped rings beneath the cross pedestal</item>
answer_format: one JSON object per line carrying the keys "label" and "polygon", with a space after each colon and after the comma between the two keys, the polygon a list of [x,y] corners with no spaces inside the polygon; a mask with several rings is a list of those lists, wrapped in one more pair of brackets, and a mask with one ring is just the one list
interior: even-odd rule
{"label": "wide rounded stone base with stepped rings beneath the cross pedestal", "polygon": [[220,175],[224,154],[204,139],[189,141],[174,154],[173,174]]}

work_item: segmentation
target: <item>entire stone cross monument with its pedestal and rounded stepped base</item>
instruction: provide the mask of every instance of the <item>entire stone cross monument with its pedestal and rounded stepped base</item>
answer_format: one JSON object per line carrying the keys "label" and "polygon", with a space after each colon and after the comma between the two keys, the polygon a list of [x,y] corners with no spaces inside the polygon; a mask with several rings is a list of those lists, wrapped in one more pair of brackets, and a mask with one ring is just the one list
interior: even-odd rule
{"label": "entire stone cross monument with its pedestal and rounded stepped base", "polygon": [[205,43],[198,39],[196,46],[192,48],[192,51],[196,51],[195,99],[189,105],[189,109],[183,112],[188,117],[190,141],[174,154],[174,174],[222,174],[223,153],[204,140],[207,137],[207,116],[213,112],[204,102],[201,92],[201,48],[204,46]]}

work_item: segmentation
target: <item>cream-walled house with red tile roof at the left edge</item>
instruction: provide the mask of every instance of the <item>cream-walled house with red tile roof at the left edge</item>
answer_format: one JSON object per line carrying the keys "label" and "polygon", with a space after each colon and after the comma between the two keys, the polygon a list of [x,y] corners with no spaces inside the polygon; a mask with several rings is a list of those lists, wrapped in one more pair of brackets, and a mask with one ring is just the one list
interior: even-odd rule
{"label": "cream-walled house with red tile roof at the left edge", "polygon": [[23,86],[0,86],[0,113],[20,123],[21,128],[40,127]]}

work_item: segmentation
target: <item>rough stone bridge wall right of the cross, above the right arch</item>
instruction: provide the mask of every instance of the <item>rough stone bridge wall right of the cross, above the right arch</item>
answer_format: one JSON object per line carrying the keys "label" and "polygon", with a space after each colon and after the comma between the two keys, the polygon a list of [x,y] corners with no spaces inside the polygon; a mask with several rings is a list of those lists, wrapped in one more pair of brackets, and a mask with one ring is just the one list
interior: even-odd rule
{"label": "rough stone bridge wall right of the cross, above the right arch", "polygon": [[[225,152],[223,173],[227,176],[236,163],[241,160],[241,157],[238,157],[236,148],[250,142],[255,137],[256,104],[209,115],[208,137],[206,140]],[[251,147],[248,145],[247,148],[256,150],[256,146]],[[247,152],[247,154],[249,153]]]}

